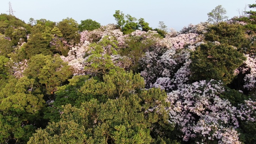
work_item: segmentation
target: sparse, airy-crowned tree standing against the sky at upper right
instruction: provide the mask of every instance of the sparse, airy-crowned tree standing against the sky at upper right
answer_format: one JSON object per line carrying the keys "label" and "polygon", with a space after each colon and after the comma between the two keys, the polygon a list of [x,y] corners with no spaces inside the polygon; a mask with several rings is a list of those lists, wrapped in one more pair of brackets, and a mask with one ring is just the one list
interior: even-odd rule
{"label": "sparse, airy-crowned tree standing against the sky at upper right", "polygon": [[228,18],[225,16],[226,9],[222,7],[222,5],[218,5],[215,9],[211,10],[211,12],[207,13],[208,15],[208,22],[218,23],[223,21],[224,19]]}

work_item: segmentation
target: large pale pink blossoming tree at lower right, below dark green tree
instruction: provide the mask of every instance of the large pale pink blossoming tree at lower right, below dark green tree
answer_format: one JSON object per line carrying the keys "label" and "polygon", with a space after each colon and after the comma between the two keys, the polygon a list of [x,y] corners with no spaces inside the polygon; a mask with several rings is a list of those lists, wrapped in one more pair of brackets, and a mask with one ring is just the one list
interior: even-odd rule
{"label": "large pale pink blossoming tree at lower right, below dark green tree", "polygon": [[183,140],[198,143],[217,140],[220,144],[240,144],[236,108],[221,99],[224,91],[221,82],[203,80],[184,84],[177,91],[168,93],[171,123],[183,132]]}

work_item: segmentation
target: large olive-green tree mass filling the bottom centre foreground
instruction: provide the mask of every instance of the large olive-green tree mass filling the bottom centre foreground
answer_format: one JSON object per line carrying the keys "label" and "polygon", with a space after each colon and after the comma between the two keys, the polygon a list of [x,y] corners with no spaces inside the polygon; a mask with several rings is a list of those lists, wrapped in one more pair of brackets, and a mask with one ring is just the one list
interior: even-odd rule
{"label": "large olive-green tree mass filling the bottom centre foreground", "polygon": [[[150,132],[156,123],[173,128],[164,110],[167,105],[164,91],[140,90],[144,86],[140,75],[124,70],[104,77],[104,82],[87,80],[81,92],[92,97],[77,107],[64,106],[60,122],[37,130],[28,144],[150,144],[155,141]],[[107,98],[103,102],[98,96]]]}

